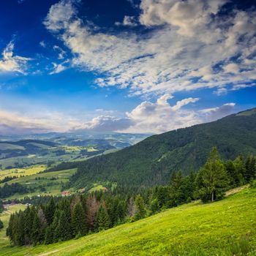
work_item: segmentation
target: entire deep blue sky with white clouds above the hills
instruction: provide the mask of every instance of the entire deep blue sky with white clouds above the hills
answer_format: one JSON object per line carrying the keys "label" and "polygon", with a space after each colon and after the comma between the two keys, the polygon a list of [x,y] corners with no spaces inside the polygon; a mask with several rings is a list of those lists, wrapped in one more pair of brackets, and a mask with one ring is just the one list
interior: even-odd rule
{"label": "entire deep blue sky with white clouds above the hills", "polygon": [[0,135],[161,133],[255,107],[255,1],[0,1]]}

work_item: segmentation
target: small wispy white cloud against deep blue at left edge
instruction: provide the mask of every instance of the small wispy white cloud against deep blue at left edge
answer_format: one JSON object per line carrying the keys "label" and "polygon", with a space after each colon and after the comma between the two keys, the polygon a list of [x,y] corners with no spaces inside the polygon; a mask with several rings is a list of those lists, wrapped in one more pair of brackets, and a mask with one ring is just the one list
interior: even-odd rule
{"label": "small wispy white cloud against deep blue at left edge", "polygon": [[0,72],[19,72],[25,74],[26,64],[31,61],[30,58],[14,55],[14,44],[10,42],[2,52],[0,59]]}

